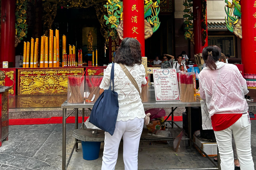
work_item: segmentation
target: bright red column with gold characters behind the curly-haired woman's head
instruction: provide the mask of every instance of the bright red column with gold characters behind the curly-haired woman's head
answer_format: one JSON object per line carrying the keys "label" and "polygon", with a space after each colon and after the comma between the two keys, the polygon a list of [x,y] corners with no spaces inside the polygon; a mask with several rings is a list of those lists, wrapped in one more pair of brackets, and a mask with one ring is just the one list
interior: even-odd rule
{"label": "bright red column with gold characters behind the curly-haired woman's head", "polygon": [[144,0],[123,0],[124,38],[131,37],[141,43],[141,53],[145,56]]}

